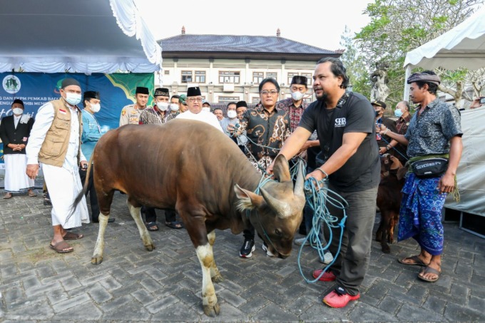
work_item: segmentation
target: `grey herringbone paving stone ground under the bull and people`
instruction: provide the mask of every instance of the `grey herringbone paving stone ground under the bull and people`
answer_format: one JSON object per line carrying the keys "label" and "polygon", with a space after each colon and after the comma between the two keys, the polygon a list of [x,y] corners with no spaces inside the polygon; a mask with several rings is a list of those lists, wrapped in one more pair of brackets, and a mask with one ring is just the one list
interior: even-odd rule
{"label": "grey herringbone paving stone ground under the bull and people", "polygon": [[[419,267],[397,262],[417,254],[414,241],[391,245],[390,255],[374,242],[362,297],[344,309],[322,303],[332,283],[302,278],[297,246],[280,260],[266,257],[257,240],[252,258],[242,259],[242,235],[218,231],[214,253],[225,280],[215,284],[213,318],[203,313],[202,274],[185,230],[160,225],[147,252],[126,195],[116,193],[103,263],[91,265],[98,224],[78,230],[85,237],[71,243],[74,252],[53,252],[51,208],[37,191],[0,199],[0,322],[485,322],[485,240],[453,223],[444,225],[439,281],[422,282]],[[321,266],[310,247],[300,262],[309,278]]]}

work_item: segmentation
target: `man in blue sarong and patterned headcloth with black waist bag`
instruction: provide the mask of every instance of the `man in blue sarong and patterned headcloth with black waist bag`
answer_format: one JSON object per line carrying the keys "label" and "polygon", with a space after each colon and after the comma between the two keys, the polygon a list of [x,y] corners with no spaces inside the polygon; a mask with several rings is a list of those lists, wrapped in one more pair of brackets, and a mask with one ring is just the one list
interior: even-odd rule
{"label": "man in blue sarong and patterned headcloth with black waist bag", "polygon": [[[422,266],[418,278],[436,282],[441,274],[441,253],[443,252],[443,225],[441,210],[447,193],[457,198],[456,168],[461,150],[461,118],[459,111],[436,98],[441,79],[433,71],[414,73],[409,76],[410,98],[417,106],[417,113],[411,119],[405,135],[381,127],[382,135],[389,135],[407,145],[409,163],[429,158],[448,159],[447,168],[432,172],[431,177],[422,178],[414,169],[407,174],[402,188],[401,210],[399,211],[398,240],[413,237],[419,243],[419,255],[399,259],[404,265]],[[431,163],[431,162],[430,162]],[[446,165],[446,164],[444,164]]]}

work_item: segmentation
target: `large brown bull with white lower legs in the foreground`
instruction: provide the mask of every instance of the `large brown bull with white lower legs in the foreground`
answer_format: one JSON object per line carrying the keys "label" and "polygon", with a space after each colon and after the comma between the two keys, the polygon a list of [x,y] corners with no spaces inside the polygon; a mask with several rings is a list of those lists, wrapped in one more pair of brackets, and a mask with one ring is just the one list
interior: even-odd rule
{"label": "large brown bull with white lower legs in the foreground", "polygon": [[260,188],[262,195],[253,193],[261,175],[238,145],[199,121],[125,125],[103,135],[92,158],[101,210],[93,264],[103,261],[103,236],[116,190],[128,195],[128,208],[148,251],[155,246],[143,225],[141,205],[178,211],[202,266],[207,315],[219,313],[213,286],[222,280],[213,257],[215,229],[238,234],[249,221],[271,252],[290,255],[305,195],[302,168],[293,188],[283,156],[275,160],[275,180]]}

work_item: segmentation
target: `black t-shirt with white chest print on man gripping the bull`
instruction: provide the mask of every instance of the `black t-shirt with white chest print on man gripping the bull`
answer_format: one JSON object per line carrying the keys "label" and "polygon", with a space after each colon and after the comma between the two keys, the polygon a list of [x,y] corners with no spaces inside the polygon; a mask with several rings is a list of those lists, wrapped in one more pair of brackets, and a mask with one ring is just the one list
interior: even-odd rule
{"label": "black t-shirt with white chest print on man gripping the bull", "polygon": [[[381,164],[376,142],[375,112],[362,94],[349,92],[330,113],[325,102],[315,101],[305,109],[300,127],[317,130],[322,152],[330,157],[342,145],[344,133],[367,133],[357,152],[329,180],[343,192],[367,190],[379,185]],[[344,102],[342,102],[344,100]],[[342,104],[343,103],[343,104]],[[329,118],[332,122],[329,123]],[[319,165],[320,166],[320,165]]]}

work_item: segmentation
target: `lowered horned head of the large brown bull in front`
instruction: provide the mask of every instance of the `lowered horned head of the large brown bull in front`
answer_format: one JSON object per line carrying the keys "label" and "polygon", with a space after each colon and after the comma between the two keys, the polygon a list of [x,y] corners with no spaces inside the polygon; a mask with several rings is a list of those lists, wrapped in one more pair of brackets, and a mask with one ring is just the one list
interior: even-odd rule
{"label": "lowered horned head of the large brown bull in front", "polygon": [[275,159],[273,173],[275,180],[260,188],[261,195],[244,190],[238,184],[234,185],[234,190],[239,199],[239,210],[251,210],[250,222],[270,252],[285,258],[290,255],[293,237],[302,222],[305,207],[303,168],[302,165],[298,168],[295,188],[284,156],[278,155]]}

